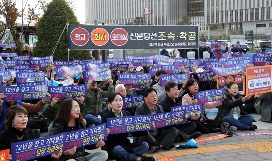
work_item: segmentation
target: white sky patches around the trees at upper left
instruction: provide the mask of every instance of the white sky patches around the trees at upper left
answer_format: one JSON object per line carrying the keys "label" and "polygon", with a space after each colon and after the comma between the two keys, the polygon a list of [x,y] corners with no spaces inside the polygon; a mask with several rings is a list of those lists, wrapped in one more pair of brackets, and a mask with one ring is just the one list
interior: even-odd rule
{"label": "white sky patches around the trees at upper left", "polygon": [[[26,0],[24,0],[25,2]],[[47,2],[51,2],[52,0],[45,0]],[[37,0],[28,0],[27,2],[29,5],[31,5],[30,7],[34,7],[37,4]],[[19,10],[21,10],[22,8],[22,0],[16,0],[16,6]],[[77,20],[81,23],[81,24],[85,24],[85,0],[75,0],[75,15],[77,16]],[[26,12],[27,13],[27,12]],[[1,17],[1,20],[2,17]],[[22,20],[18,20],[17,23],[22,23]]]}

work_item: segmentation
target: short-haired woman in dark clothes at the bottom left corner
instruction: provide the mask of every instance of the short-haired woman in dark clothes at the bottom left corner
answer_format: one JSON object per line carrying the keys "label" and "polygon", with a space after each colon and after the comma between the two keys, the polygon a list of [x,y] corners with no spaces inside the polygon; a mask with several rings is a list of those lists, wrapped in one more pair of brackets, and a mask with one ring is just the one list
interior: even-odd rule
{"label": "short-haired woman in dark clothes at the bottom left corner", "polygon": [[[11,143],[36,139],[34,132],[26,127],[27,114],[27,110],[20,105],[13,105],[7,110],[5,124],[8,129],[0,133],[0,150],[11,149]],[[58,159],[61,155],[62,150],[48,156],[35,158],[35,160],[53,161],[53,158]],[[12,157],[14,160],[16,159],[16,156],[10,154],[7,160],[12,160]],[[29,161],[34,161],[34,159]]]}

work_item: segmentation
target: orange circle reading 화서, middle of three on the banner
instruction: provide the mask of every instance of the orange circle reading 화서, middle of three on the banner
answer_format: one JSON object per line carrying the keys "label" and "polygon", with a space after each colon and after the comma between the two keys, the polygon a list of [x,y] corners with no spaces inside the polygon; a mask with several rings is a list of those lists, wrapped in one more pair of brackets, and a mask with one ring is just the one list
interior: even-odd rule
{"label": "orange circle reading \ud654\uc11c, middle of three on the banner", "polygon": [[103,46],[109,41],[109,33],[103,28],[96,28],[91,33],[91,40],[97,46]]}

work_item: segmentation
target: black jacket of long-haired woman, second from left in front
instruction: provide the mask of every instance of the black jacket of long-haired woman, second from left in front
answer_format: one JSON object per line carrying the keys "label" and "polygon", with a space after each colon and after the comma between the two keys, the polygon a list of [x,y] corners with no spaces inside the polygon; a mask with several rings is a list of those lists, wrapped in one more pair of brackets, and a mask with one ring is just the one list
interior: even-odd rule
{"label": "black jacket of long-haired woman, second from left in front", "polygon": [[[76,125],[79,126],[78,129],[86,129],[84,123],[80,123],[79,121],[77,121]],[[55,120],[53,121],[53,133],[52,135],[57,135],[57,134],[60,134],[60,133],[63,133],[63,132],[69,132],[68,129],[67,129],[68,125],[65,124],[64,122],[59,122],[59,123],[56,123]],[[84,147],[79,147],[76,149],[76,152],[75,154],[73,155],[67,155],[69,156],[70,158],[76,158],[76,157],[79,157],[79,156],[82,156],[83,154],[86,156],[88,155],[89,153],[87,152],[84,152],[84,148],[85,149],[88,149],[88,150],[92,150],[92,149],[96,149],[95,147],[96,144],[92,144],[92,145],[87,145],[87,146],[84,146]],[[56,159],[55,161],[65,161],[65,160],[68,160],[69,158],[65,156],[65,155],[62,155],[59,159]]]}

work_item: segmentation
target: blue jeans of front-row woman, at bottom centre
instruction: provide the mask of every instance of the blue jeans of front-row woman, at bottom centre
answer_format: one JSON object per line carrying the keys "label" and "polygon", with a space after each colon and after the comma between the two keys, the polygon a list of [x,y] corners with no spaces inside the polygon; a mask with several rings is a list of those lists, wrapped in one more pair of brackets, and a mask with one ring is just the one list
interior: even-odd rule
{"label": "blue jeans of front-row woman, at bottom centre", "polygon": [[136,161],[138,157],[141,157],[144,152],[148,149],[148,144],[146,142],[142,142],[142,144],[133,148],[134,152],[129,153],[122,146],[115,146],[112,150],[112,157],[118,158],[123,161]]}

